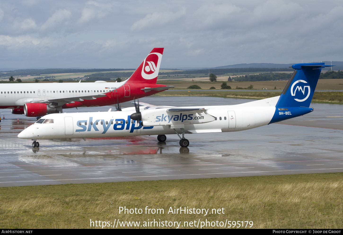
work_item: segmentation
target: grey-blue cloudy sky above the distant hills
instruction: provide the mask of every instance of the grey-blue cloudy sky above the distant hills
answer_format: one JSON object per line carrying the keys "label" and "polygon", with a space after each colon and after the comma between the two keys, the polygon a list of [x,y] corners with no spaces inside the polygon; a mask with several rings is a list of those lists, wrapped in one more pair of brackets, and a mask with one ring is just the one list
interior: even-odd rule
{"label": "grey-blue cloudy sky above the distant hills", "polygon": [[0,68],[343,61],[343,1],[0,0]]}

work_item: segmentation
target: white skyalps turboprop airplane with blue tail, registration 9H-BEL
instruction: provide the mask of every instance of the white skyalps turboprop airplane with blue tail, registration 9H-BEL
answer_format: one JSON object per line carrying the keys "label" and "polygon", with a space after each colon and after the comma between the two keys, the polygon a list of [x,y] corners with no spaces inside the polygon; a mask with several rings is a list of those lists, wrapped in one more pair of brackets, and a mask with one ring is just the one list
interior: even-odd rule
{"label": "white skyalps turboprop airplane with blue tail, registration 9H-BEL", "polygon": [[[324,63],[293,64],[295,69],[280,96],[238,105],[166,107],[142,104],[122,111],[49,114],[23,130],[18,137],[71,139],[177,134],[180,146],[187,147],[185,134],[242,131],[298,117],[309,108]],[[182,135],[182,137],[180,136]]]}

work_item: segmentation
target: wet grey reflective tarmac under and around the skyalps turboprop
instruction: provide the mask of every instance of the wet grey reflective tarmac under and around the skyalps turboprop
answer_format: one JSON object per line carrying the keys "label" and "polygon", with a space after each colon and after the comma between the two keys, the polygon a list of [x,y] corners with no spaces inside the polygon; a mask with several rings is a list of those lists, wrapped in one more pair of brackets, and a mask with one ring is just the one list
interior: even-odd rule
{"label": "wet grey reflective tarmac under and around the skyalps turboprop", "polygon": [[[232,105],[251,99],[145,97],[154,105]],[[122,107],[129,107],[127,102]],[[1,109],[0,187],[134,180],[343,172],[343,105],[312,103],[307,115],[251,130],[176,135],[39,140],[17,138],[35,118]],[[107,111],[115,107],[65,109]],[[3,115],[5,119],[3,119]],[[17,118],[19,117],[19,121]]]}

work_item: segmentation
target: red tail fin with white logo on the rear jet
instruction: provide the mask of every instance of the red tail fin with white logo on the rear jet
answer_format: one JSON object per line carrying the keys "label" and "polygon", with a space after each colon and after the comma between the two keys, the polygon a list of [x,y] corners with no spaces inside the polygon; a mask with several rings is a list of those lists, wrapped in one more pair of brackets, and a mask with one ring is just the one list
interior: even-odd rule
{"label": "red tail fin with white logo on the rear jet", "polygon": [[144,59],[141,65],[134,71],[126,84],[148,82],[155,84],[157,81],[159,66],[161,64],[164,48],[154,48]]}

